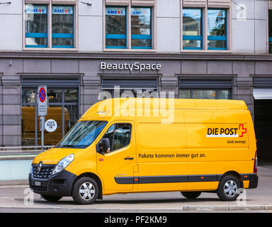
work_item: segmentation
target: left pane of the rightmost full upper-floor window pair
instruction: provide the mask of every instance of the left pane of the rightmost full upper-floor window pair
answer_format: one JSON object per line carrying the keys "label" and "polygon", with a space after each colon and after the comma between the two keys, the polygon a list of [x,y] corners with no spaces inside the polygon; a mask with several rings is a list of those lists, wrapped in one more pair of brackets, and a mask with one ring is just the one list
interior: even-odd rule
{"label": "left pane of the rightmost full upper-floor window pair", "polygon": [[202,49],[202,10],[183,9],[183,49]]}

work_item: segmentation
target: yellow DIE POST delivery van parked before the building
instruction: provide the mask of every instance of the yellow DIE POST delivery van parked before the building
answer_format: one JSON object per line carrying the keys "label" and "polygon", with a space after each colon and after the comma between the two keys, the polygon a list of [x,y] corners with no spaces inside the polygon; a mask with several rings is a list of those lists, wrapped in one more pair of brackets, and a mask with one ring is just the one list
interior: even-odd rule
{"label": "yellow DIE POST delivery van parked before the building", "polygon": [[91,106],[55,148],[33,160],[29,186],[48,201],[72,196],[215,192],[237,199],[258,184],[256,138],[244,101],[106,99]]}

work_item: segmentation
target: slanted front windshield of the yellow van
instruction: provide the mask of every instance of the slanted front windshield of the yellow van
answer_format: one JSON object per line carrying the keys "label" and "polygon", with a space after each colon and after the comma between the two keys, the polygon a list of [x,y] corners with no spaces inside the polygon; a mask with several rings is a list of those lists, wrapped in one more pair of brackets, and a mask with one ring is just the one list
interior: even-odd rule
{"label": "slanted front windshield of the yellow van", "polygon": [[87,148],[96,140],[107,121],[79,121],[55,148]]}

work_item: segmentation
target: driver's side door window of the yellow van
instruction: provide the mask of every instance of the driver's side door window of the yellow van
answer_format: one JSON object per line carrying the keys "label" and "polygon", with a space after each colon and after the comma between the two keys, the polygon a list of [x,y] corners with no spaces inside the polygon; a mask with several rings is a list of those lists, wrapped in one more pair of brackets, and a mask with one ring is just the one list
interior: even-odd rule
{"label": "driver's side door window of the yellow van", "polygon": [[131,124],[130,123],[115,123],[108,128],[103,138],[108,138],[111,144],[111,152],[124,148],[130,144]]}

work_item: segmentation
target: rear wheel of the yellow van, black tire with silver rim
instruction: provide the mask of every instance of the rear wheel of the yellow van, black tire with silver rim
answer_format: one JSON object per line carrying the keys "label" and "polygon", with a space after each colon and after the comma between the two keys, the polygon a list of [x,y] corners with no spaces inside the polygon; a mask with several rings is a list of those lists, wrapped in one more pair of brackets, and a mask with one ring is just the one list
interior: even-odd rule
{"label": "rear wheel of the yellow van, black tire with silver rim", "polygon": [[217,196],[223,201],[234,201],[239,196],[240,181],[233,175],[222,177],[217,189]]}

